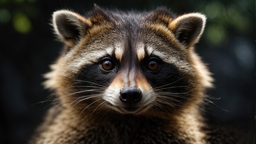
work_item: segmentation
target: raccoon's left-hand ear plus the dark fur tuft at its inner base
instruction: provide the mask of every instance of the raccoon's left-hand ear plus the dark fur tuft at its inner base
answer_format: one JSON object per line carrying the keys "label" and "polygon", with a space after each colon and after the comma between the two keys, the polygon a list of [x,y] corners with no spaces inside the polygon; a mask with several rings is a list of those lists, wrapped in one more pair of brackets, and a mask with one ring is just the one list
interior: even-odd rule
{"label": "raccoon's left-hand ear plus the dark fur tuft at its inner base", "polygon": [[52,15],[55,33],[69,47],[77,44],[95,25],[110,21],[112,21],[111,14],[96,4],[86,18],[69,10],[55,11]]}

